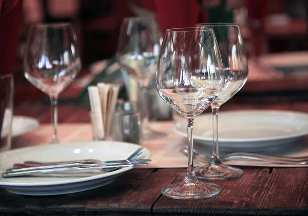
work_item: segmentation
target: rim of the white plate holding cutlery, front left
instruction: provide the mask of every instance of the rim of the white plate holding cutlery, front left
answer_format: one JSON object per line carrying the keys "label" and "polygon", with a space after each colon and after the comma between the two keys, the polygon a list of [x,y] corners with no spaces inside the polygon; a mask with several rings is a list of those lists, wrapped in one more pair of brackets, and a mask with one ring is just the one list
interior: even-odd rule
{"label": "rim of the white plate holding cutlery, front left", "polygon": [[[8,151],[4,151],[4,152],[0,152],[0,155],[5,154],[7,152],[12,152],[12,151],[22,151],[22,150],[27,150],[27,149],[35,149],[35,148],[47,148],[50,146],[55,146],[55,148],[57,146],[68,146],[68,145],[82,145],[82,144],[89,144],[89,143],[94,143],[95,145],[104,145],[107,143],[114,143],[114,146],[117,144],[126,144],[126,145],[133,145],[136,146],[136,149],[141,147],[141,145],[138,144],[134,144],[134,143],[126,143],[126,142],[114,142],[114,141],[81,141],[81,142],[73,142],[73,143],[60,143],[60,144],[47,144],[47,145],[36,145],[36,146],[28,146],[28,147],[24,147],[24,148],[16,148],[16,149],[12,149],[12,150],[8,150]],[[144,147],[144,146],[143,146]],[[150,158],[150,150],[146,147],[143,148],[143,151],[145,150],[146,156],[145,159],[149,159]],[[129,167],[124,167],[112,172],[108,172],[108,173],[102,173],[102,174],[98,174],[98,175],[92,175],[92,176],[88,176],[88,177],[82,177],[82,178],[75,178],[72,180],[62,180],[62,181],[57,181],[57,182],[34,182],[34,183],[27,183],[27,182],[4,182],[2,181],[3,177],[0,176],[0,187],[1,186],[14,186],[14,187],[37,187],[37,186],[56,186],[56,185],[65,185],[65,184],[74,184],[74,183],[81,183],[81,182],[88,182],[88,181],[92,181],[92,180],[97,180],[97,179],[102,179],[108,176],[112,176],[112,175],[117,175],[117,174],[121,174],[123,172],[126,172],[130,169],[133,169],[133,166],[129,166]],[[0,170],[1,171],[1,170]],[[1,172],[0,172],[1,173]],[[102,176],[103,175],[103,176]]]}

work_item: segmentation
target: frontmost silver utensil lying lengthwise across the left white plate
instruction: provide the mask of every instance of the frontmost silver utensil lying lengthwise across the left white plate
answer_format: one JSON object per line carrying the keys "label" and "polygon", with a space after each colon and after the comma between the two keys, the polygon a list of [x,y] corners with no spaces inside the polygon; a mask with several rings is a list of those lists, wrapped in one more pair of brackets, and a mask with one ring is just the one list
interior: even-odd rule
{"label": "frontmost silver utensil lying lengthwise across the left white plate", "polygon": [[45,174],[45,173],[52,173],[52,172],[61,172],[61,171],[79,171],[79,170],[86,170],[86,169],[98,169],[98,168],[111,168],[111,167],[127,167],[127,166],[140,166],[140,165],[147,165],[147,162],[125,162],[125,163],[113,163],[113,164],[80,164],[79,166],[75,167],[58,167],[58,168],[43,168],[38,169],[37,167],[28,167],[28,168],[36,168],[25,170],[27,168],[21,169],[11,169],[2,174],[3,178],[9,177],[17,177],[17,176],[27,176],[27,175],[37,175],[37,174]]}

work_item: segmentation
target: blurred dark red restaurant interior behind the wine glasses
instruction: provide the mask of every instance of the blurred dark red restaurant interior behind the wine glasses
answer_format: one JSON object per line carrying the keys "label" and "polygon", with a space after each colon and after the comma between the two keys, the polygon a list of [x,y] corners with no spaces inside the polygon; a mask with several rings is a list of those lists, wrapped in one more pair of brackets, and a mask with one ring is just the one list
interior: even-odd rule
{"label": "blurred dark red restaurant interior behind the wine glasses", "polygon": [[[23,100],[40,100],[49,106],[48,97],[23,75],[23,48],[31,24],[72,22],[78,36],[83,69],[68,87],[76,90],[60,95],[61,106],[69,102],[70,97],[80,96],[95,77],[102,77],[100,81],[108,82],[104,80],[106,76],[99,75],[105,73],[104,67],[93,71],[93,63],[114,57],[123,17],[144,13],[158,14],[162,31],[205,21],[241,25],[249,57],[249,75],[245,86],[228,104],[306,102],[307,10],[306,0],[24,0],[14,71],[14,103],[17,106]],[[71,92],[75,95],[72,96]]]}

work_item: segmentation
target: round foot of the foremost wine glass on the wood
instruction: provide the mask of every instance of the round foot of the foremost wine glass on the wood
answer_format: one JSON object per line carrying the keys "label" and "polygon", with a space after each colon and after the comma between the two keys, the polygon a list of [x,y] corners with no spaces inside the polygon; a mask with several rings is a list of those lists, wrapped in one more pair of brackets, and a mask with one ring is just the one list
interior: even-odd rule
{"label": "round foot of the foremost wine glass on the wood", "polygon": [[213,183],[204,183],[197,180],[194,183],[180,182],[164,187],[161,193],[168,198],[177,200],[195,200],[214,197],[221,188]]}

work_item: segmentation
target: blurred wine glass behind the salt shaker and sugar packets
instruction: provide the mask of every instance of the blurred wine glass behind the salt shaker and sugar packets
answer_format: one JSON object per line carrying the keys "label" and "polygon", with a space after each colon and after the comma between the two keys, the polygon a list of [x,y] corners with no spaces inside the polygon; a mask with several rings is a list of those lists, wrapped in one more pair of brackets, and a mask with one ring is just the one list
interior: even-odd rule
{"label": "blurred wine glass behind the salt shaker and sugar packets", "polygon": [[147,87],[156,70],[160,52],[160,29],[155,16],[126,17],[123,19],[117,47],[121,69],[135,78],[142,89],[142,139],[158,138],[165,133],[149,128]]}

